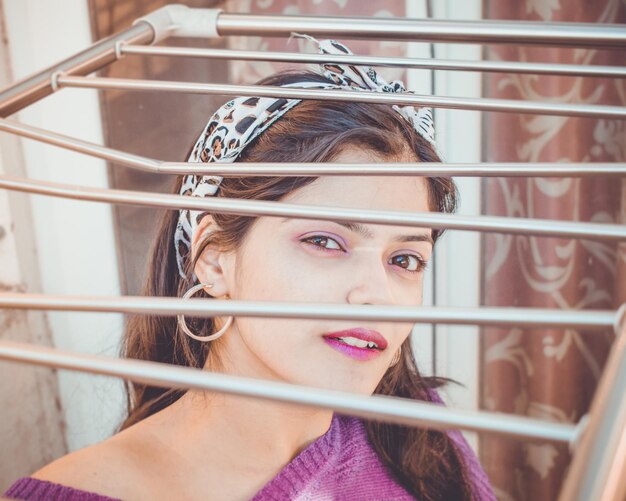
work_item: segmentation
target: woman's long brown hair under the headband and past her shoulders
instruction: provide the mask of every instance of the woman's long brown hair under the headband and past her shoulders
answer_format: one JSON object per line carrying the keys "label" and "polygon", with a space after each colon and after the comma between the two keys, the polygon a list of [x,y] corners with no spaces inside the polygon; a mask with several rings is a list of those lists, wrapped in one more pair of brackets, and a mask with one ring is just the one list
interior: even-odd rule
{"label": "woman's long brown hair under the headband and past her shoulders", "polygon": [[[283,72],[265,78],[260,85],[283,85],[294,81],[327,80],[316,73]],[[239,161],[248,162],[328,162],[346,146],[369,149],[385,158],[411,156],[419,161],[440,161],[432,146],[420,137],[399,113],[388,105],[335,101],[302,101],[242,152]],[[224,178],[215,196],[226,198],[278,201],[289,193],[313,182],[314,177],[231,177]],[[429,206],[432,211],[453,212],[456,188],[449,178],[428,180]],[[178,193],[178,178],[174,193]],[[211,244],[223,251],[236,249],[245,238],[255,218],[214,213],[216,230],[198,247],[195,260]],[[168,212],[162,221],[148,264],[143,293],[149,296],[180,297],[193,285],[191,278],[178,274],[174,249],[176,211]],[[433,230],[433,239],[441,235]],[[186,257],[187,276],[192,276],[195,260]],[[198,294],[210,297],[204,292]],[[191,320],[191,319],[189,319]],[[191,321],[189,322],[191,324]],[[192,329],[199,335],[214,332],[211,318],[194,319]],[[191,339],[177,330],[173,317],[136,316],[127,325],[122,356],[202,368],[219,365],[211,343]],[[376,394],[432,401],[429,389],[441,386],[443,379],[422,377],[415,365],[410,338],[402,345],[400,361],[383,376]],[[128,416],[120,425],[123,430],[178,400],[184,390],[165,389],[127,382]],[[368,436],[381,460],[392,475],[419,499],[471,499],[462,456],[446,433],[423,428],[365,420]]]}

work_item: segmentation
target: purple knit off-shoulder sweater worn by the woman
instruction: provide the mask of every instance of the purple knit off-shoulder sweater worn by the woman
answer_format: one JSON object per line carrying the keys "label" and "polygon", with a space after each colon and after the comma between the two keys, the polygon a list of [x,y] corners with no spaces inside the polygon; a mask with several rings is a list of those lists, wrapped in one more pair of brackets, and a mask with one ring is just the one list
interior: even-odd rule
{"label": "purple knit off-shoulder sweater worn by the woman", "polygon": [[[439,395],[433,397],[441,403]],[[476,455],[460,432],[448,434],[465,458],[474,499],[495,501]],[[4,494],[24,500],[111,501],[112,498],[31,477],[18,479]],[[330,428],[303,449],[251,501],[269,500],[397,500],[414,499],[397,483],[367,438],[364,423],[335,413]]]}

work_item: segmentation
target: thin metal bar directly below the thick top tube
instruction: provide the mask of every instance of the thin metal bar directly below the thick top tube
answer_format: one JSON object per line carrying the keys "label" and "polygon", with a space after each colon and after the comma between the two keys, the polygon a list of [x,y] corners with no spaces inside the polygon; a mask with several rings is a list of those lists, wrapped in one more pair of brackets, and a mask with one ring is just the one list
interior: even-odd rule
{"label": "thin metal bar directly below the thick top tube", "polygon": [[335,63],[393,68],[428,69],[446,71],[479,71],[493,73],[523,73],[533,75],[584,76],[625,78],[626,68],[582,64],[525,63],[515,61],[464,61],[452,59],[424,59],[409,57],[356,56],[337,54],[300,54],[295,52],[260,52],[251,50],[205,49],[197,47],[166,47],[127,45],[120,47],[123,55],[172,56],[245,60],[274,61],[285,63]]}

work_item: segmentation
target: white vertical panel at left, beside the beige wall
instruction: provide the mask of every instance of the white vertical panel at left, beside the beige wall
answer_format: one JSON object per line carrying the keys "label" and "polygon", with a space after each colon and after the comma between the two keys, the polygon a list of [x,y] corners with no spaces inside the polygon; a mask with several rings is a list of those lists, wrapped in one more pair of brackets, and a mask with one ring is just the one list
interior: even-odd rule
{"label": "white vertical panel at left, beside the beige wall", "polygon": [[[91,44],[86,0],[4,0],[4,14],[15,79]],[[12,118],[102,143],[94,91],[62,90]],[[108,185],[104,161],[30,140],[23,140],[23,149],[31,178]],[[43,292],[119,295],[111,207],[42,196],[31,196],[31,201]],[[120,315],[57,312],[48,318],[57,348],[117,353]],[[120,382],[60,371],[59,383],[69,448],[75,450],[109,435],[122,408]]]}

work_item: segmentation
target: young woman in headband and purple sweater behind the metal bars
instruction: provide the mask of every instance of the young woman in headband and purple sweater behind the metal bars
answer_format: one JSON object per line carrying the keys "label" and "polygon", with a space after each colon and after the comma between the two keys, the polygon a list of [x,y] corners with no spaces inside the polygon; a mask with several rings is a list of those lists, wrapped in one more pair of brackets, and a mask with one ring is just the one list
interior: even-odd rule
{"label": "young woman in headband and purple sweater behind the metal bars", "polygon": [[[350,53],[320,43],[325,53]],[[403,92],[371,68],[323,65],[262,85]],[[439,161],[429,110],[242,97],[209,120],[196,162]],[[452,212],[448,178],[181,176],[188,196],[384,211]],[[145,294],[343,304],[422,302],[440,231],[171,211]],[[277,318],[134,317],[123,355],[305,386],[442,403],[421,377],[412,324]],[[461,434],[325,409],[128,384],[128,417],[108,440],[7,492],[20,499],[495,499]],[[82,497],[81,497],[82,496]],[[106,497],[103,497],[106,496]]]}

